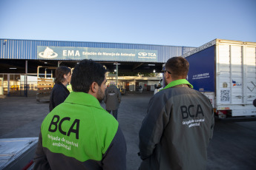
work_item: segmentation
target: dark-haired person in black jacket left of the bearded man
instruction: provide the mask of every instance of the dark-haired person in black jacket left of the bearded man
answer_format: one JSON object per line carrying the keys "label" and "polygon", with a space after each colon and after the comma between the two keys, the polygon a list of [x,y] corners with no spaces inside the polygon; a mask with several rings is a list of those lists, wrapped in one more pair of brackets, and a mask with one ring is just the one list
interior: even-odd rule
{"label": "dark-haired person in black jacket left of the bearded man", "polygon": [[67,89],[67,84],[70,83],[71,75],[71,69],[68,67],[61,66],[56,69],[55,84],[50,92],[50,112],[68,97],[70,92]]}

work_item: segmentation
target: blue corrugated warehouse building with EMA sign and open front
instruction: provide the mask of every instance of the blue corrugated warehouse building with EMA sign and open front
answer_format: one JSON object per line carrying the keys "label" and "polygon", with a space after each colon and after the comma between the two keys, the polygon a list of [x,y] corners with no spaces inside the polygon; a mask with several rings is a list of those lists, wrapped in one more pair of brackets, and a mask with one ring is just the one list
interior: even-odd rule
{"label": "blue corrugated warehouse building with EMA sign and open front", "polygon": [[154,84],[160,81],[157,72],[168,58],[194,49],[150,44],[0,38],[0,95],[36,93],[38,78],[53,78],[56,67],[73,68],[82,59],[90,58],[104,65],[109,72],[108,79],[127,91],[137,91],[140,86],[144,91],[152,91]]}

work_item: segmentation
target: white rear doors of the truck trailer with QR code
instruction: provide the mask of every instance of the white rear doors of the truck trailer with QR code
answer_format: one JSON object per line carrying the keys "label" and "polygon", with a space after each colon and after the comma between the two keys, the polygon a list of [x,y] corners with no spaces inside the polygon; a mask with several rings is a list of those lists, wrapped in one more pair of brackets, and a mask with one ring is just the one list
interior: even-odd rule
{"label": "white rear doors of the truck trailer with QR code", "polygon": [[256,98],[255,46],[220,43],[217,52],[217,105],[232,116],[252,115]]}

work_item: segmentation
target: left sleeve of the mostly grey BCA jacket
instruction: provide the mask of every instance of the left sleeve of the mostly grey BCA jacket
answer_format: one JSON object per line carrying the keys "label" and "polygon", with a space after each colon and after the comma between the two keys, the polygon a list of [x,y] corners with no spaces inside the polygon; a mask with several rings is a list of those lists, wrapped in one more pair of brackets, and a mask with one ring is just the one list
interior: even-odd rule
{"label": "left sleeve of the mostly grey BCA jacket", "polygon": [[[156,97],[158,96],[158,97]],[[145,160],[153,154],[157,143],[160,143],[163,135],[163,130],[169,121],[169,110],[165,107],[163,98],[159,95],[154,95],[148,104],[148,113],[145,116],[140,128],[140,158]]]}

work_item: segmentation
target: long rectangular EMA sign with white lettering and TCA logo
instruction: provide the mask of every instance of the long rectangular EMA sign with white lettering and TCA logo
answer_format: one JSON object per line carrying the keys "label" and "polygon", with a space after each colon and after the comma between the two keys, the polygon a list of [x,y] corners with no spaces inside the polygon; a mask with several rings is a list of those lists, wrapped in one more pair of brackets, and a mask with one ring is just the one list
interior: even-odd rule
{"label": "long rectangular EMA sign with white lettering and TCA logo", "polygon": [[90,48],[90,47],[37,47],[38,59],[95,61],[157,62],[157,50]]}

